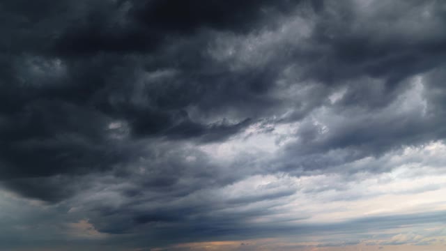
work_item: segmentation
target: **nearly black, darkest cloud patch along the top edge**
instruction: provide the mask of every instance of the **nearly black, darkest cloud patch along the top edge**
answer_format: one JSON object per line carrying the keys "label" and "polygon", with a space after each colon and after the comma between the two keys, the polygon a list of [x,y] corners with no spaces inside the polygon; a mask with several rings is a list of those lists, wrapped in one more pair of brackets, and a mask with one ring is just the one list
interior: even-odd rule
{"label": "nearly black, darkest cloud patch along the top edge", "polygon": [[171,38],[199,29],[249,31],[261,17],[290,1],[108,1],[93,3],[56,36],[50,51],[82,56],[98,52],[152,52]]}

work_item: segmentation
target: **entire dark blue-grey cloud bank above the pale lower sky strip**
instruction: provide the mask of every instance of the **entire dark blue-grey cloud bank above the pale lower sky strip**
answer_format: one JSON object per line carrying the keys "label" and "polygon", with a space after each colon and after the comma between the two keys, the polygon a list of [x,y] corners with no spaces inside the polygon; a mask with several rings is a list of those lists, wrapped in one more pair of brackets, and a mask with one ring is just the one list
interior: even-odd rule
{"label": "entire dark blue-grey cloud bank above the pale lower sky strip", "polygon": [[[295,190],[206,190],[387,172],[348,164],[446,136],[443,1],[6,0],[0,17],[1,185],[51,220],[81,208],[113,235],[100,242],[283,234],[293,227],[246,223],[271,208],[224,209]],[[289,124],[293,140],[266,158],[203,151]]]}

